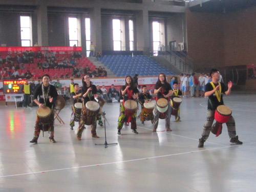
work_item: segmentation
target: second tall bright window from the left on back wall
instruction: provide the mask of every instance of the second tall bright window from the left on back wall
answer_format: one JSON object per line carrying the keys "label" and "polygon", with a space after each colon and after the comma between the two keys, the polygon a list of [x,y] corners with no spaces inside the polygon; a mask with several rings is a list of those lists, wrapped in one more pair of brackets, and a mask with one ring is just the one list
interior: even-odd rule
{"label": "second tall bright window from the left on back wall", "polygon": [[69,17],[69,46],[78,46],[78,25],[77,18]]}

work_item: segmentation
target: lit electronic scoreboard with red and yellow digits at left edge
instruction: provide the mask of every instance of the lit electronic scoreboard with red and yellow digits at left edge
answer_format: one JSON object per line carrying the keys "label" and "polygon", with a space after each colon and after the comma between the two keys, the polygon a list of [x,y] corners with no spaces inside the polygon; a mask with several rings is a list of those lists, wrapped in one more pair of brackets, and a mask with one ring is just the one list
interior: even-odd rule
{"label": "lit electronic scoreboard with red and yellow digits at left edge", "polygon": [[23,93],[24,84],[26,84],[26,80],[4,80],[4,94]]}

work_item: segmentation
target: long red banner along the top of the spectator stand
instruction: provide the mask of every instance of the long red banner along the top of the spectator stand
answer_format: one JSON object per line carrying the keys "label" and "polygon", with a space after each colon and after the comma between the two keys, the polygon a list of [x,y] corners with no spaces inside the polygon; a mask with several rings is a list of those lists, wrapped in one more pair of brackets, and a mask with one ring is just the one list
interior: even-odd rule
{"label": "long red banner along the top of the spectator stand", "polygon": [[19,51],[82,51],[82,47],[0,47],[0,52],[19,52]]}

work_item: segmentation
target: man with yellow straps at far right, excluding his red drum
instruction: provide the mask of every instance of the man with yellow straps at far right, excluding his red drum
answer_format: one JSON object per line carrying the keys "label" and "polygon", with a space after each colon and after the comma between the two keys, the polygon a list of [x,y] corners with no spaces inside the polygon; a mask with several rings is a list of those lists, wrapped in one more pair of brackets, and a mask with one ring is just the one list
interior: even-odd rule
{"label": "man with yellow straps at far right, excluding his red drum", "polygon": [[[223,93],[229,95],[233,86],[232,82],[229,81],[227,89],[222,82],[219,82],[220,72],[217,69],[211,69],[210,77],[212,78],[212,82],[206,84],[204,93],[205,97],[208,97],[207,115],[203,126],[202,137],[199,139],[198,147],[204,147],[204,142],[206,139],[208,139],[212,123],[214,122],[215,110],[219,105],[224,104]],[[229,118],[226,124],[228,135],[231,138],[230,142],[243,144],[243,142],[238,140],[238,136],[236,136],[236,123],[234,122],[234,118],[232,116]]]}

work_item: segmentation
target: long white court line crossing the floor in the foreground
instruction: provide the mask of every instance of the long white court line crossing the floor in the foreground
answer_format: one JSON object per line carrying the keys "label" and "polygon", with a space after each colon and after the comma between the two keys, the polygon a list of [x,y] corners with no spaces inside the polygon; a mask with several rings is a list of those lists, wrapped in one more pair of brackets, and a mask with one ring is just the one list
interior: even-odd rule
{"label": "long white court line crossing the floor in the foreground", "polygon": [[243,145],[222,146],[222,147],[216,147],[216,148],[209,148],[209,149],[205,149],[205,150],[197,150],[197,151],[183,152],[183,153],[177,153],[177,154],[168,154],[168,155],[155,156],[155,157],[145,157],[145,158],[140,158],[140,159],[126,160],[126,161],[116,161],[116,162],[110,162],[110,163],[84,165],[84,166],[77,166],[77,167],[59,168],[59,169],[51,169],[51,170],[41,170],[40,172],[31,172],[31,173],[25,173],[25,174],[15,174],[15,175],[0,176],[0,178],[24,176],[24,175],[32,175],[32,174],[40,174],[40,173],[47,173],[47,172],[56,172],[56,171],[59,171],[59,170],[69,170],[69,169],[75,169],[75,168],[86,168],[86,167],[93,167],[93,166],[100,166],[100,165],[110,165],[110,164],[116,164],[116,163],[126,163],[126,162],[140,161],[140,160],[148,160],[148,159],[157,159],[157,158],[162,158],[162,157],[170,157],[170,156],[184,155],[184,154],[190,154],[190,153],[198,153],[198,152],[204,152],[204,151],[219,150],[219,149],[222,149],[222,148],[244,146],[244,145],[255,144],[255,143],[256,142],[246,143],[246,144],[243,144]]}

